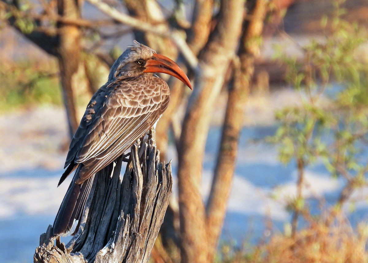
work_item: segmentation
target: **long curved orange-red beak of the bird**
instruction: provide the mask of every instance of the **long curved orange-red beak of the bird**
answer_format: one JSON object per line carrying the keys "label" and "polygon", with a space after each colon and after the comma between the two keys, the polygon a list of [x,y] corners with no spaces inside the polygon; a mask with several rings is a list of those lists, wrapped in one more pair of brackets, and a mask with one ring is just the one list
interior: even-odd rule
{"label": "long curved orange-red beak of the bird", "polygon": [[147,60],[145,64],[145,70],[143,72],[160,72],[169,74],[183,81],[185,85],[193,90],[192,85],[190,84],[190,81],[184,71],[180,69],[178,64],[176,64],[173,60],[169,59],[166,56],[153,54],[152,59]]}

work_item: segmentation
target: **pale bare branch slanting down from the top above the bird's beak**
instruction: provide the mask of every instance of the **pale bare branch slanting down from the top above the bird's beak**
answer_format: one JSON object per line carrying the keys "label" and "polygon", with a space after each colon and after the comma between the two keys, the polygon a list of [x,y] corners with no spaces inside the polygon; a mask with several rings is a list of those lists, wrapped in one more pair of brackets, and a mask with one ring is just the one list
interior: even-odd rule
{"label": "pale bare branch slanting down from the top above the bird's beak", "polygon": [[131,17],[130,15],[121,13],[113,7],[110,7],[106,3],[103,3],[99,0],[87,0],[89,3],[96,6],[100,11],[109,15],[114,20],[129,25],[132,28],[135,28],[144,32],[151,32],[157,34],[159,36],[170,38],[178,47],[185,60],[188,62],[190,67],[193,70],[198,69],[198,59],[193,54],[191,49],[188,47],[185,40],[182,38],[181,34],[177,30],[167,30],[166,28],[161,27],[160,25],[152,25],[150,23],[141,21],[137,18]]}

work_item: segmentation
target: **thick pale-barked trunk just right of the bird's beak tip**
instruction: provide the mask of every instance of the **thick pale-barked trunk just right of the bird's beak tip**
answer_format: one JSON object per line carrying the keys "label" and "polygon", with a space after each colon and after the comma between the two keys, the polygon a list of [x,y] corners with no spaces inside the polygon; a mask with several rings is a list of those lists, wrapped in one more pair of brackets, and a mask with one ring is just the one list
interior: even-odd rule
{"label": "thick pale-barked trunk just right of the bird's beak tip", "polygon": [[244,1],[221,2],[220,19],[201,55],[202,74],[184,119],[178,158],[181,262],[211,262],[200,192],[204,148],[215,98],[241,33]]}

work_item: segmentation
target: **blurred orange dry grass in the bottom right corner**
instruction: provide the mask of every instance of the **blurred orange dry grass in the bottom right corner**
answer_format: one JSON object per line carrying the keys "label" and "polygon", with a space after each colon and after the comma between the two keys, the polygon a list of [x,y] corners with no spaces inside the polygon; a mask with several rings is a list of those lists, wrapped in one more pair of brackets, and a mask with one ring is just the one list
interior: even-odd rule
{"label": "blurred orange dry grass in the bottom right corner", "polygon": [[251,253],[224,256],[226,263],[365,263],[368,225],[361,223],[357,230],[344,218],[329,227],[319,222],[296,233],[294,238],[273,235],[270,241]]}

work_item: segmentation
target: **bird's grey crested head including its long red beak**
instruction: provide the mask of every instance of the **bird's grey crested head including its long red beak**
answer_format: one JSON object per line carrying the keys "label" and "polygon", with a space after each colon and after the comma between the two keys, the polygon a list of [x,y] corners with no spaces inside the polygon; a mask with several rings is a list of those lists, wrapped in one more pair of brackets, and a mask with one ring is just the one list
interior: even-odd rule
{"label": "bird's grey crested head including its long red beak", "polygon": [[110,70],[109,81],[113,81],[120,76],[136,77],[156,72],[174,76],[192,89],[187,75],[180,69],[178,64],[137,41],[134,41],[133,46],[128,46],[115,61]]}

